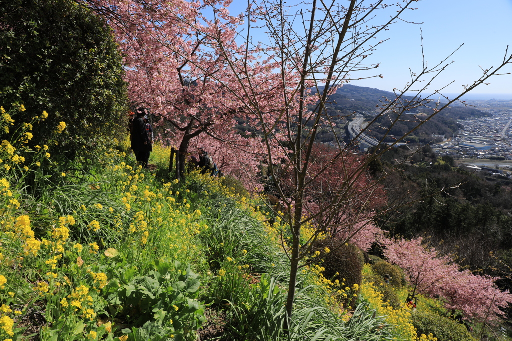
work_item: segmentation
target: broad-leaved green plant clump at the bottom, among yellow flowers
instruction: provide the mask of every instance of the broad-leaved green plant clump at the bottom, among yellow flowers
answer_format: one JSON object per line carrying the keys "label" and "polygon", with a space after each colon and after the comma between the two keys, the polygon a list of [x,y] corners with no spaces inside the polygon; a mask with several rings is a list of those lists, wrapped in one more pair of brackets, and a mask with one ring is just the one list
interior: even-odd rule
{"label": "broad-leaved green plant clump at the bottom, among yellow flowers", "polygon": [[110,310],[134,328],[131,339],[144,337],[148,330],[158,335],[193,339],[204,321],[204,307],[197,300],[199,276],[180,262],[154,261],[155,270],[138,275],[128,268],[120,281],[112,279],[103,289]]}

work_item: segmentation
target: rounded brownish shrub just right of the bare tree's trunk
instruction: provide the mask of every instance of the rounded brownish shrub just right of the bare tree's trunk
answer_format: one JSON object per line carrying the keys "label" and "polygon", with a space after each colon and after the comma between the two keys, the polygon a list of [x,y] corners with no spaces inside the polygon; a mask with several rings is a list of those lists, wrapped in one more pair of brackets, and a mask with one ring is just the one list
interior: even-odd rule
{"label": "rounded brownish shrub just right of the bare tree's trunk", "polygon": [[361,285],[364,258],[360,249],[355,245],[344,244],[331,238],[318,240],[313,249],[325,254],[326,247],[331,252],[324,257],[322,263],[325,268],[323,272],[325,278],[332,281],[339,280],[339,283],[345,283],[344,286],[349,287],[356,283]]}

